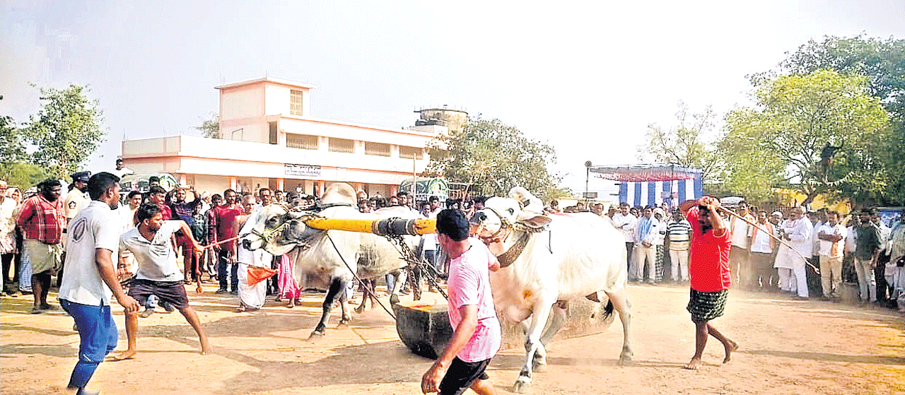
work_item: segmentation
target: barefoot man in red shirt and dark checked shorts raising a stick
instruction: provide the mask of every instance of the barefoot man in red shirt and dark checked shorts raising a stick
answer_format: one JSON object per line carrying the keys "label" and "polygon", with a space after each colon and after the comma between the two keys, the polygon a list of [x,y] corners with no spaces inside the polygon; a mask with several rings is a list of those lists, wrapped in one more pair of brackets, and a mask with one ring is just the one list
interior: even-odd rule
{"label": "barefoot man in red shirt and dark checked shorts raising a stick", "polygon": [[692,230],[691,259],[688,265],[691,297],[687,308],[696,327],[694,356],[685,365],[685,369],[700,368],[700,357],[707,345],[708,335],[723,343],[726,349],[723,363],[729,362],[732,352],[738,349],[738,343],[729,340],[716,326],[710,324],[710,320],[723,315],[732,278],[729,274],[729,249],[732,241],[729,239],[726,223],[717,212],[719,207],[719,200],[710,196],[681,205],[681,211],[691,223]]}

